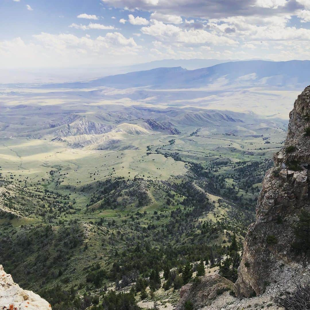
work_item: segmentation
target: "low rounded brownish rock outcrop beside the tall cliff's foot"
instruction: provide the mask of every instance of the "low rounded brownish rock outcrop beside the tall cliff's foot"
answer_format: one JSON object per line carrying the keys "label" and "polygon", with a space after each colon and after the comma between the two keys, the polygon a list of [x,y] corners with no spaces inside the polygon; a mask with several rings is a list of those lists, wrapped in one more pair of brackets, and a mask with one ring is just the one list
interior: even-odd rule
{"label": "low rounded brownish rock outcrop beside the tall cliff's foot", "polygon": [[195,283],[182,286],[180,301],[176,310],[183,310],[187,301],[191,301],[195,309],[210,305],[212,301],[225,291],[232,290],[233,283],[218,274],[198,277]]}

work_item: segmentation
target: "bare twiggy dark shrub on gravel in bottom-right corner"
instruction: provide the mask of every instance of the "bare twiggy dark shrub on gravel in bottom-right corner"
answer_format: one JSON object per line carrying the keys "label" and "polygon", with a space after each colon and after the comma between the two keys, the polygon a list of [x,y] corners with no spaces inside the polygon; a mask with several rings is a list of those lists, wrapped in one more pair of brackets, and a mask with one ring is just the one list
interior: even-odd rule
{"label": "bare twiggy dark shrub on gravel in bottom-right corner", "polygon": [[304,285],[295,284],[293,293],[285,292],[274,299],[278,306],[285,310],[307,310],[310,309],[310,280]]}

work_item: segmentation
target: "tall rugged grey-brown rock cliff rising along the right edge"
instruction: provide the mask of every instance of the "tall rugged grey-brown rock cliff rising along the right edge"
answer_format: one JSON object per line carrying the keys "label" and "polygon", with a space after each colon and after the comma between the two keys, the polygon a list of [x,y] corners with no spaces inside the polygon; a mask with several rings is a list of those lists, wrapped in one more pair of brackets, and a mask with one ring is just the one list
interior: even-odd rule
{"label": "tall rugged grey-brown rock cliff rising along the right edge", "polygon": [[283,266],[296,277],[296,270],[307,262],[291,244],[297,215],[310,206],[310,86],[295,101],[285,145],[273,159],[275,165],[266,172],[259,194],[255,223],[244,241],[234,285],[237,296],[262,294],[269,283],[279,281]]}

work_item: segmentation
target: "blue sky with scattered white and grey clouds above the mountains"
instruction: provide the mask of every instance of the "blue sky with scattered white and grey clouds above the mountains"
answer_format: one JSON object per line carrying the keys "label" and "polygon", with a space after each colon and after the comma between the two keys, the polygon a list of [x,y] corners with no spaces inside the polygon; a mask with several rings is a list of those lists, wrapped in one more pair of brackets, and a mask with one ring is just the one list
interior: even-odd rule
{"label": "blue sky with scattered white and grey clouds above the mountains", "polygon": [[0,0],[2,68],[310,59],[310,0]]}

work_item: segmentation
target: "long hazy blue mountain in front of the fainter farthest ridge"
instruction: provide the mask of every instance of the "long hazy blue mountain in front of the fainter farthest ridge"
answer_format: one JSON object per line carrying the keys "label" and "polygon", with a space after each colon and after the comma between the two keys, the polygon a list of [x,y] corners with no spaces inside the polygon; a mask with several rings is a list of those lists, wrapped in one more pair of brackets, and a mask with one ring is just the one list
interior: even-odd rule
{"label": "long hazy blue mountain in front of the fainter farthest ridge", "polygon": [[216,64],[202,69],[182,67],[156,68],[96,79],[91,82],[48,84],[48,88],[113,87],[118,89],[148,87],[151,89],[202,88],[212,84],[223,87],[264,86],[300,89],[308,84],[310,61],[249,60]]}

